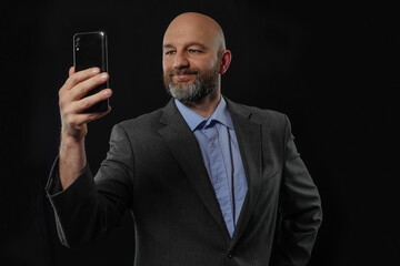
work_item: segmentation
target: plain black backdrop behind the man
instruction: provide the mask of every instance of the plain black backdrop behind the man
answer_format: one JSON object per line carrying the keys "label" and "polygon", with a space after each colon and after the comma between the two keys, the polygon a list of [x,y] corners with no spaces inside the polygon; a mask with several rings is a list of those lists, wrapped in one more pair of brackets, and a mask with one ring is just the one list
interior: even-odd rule
{"label": "plain black backdrop behind the man", "polygon": [[162,34],[183,11],[207,13],[224,29],[233,60],[223,94],[292,122],[324,213],[310,265],[399,260],[393,3],[49,0],[9,1],[1,11],[1,265],[132,265],[129,215],[97,244],[59,243],[43,191],[59,144],[58,90],[72,64],[72,34],[106,30],[114,94],[112,112],[89,125],[96,171],[114,123],[168,102]]}

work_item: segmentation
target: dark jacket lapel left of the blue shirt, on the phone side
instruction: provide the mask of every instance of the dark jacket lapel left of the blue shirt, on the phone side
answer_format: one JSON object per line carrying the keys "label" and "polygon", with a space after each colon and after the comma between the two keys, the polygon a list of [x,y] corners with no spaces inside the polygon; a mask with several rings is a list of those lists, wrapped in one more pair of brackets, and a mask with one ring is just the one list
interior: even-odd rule
{"label": "dark jacket lapel left of the blue shirt, on the phone side", "polygon": [[182,167],[207,209],[228,235],[216,193],[208,176],[196,136],[179,113],[173,100],[164,108],[159,131],[167,146]]}

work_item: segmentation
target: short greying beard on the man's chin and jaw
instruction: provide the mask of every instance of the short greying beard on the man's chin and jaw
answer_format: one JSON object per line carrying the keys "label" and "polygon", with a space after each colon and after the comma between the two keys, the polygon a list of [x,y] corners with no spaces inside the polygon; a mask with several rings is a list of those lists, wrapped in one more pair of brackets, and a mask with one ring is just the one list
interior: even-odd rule
{"label": "short greying beard on the man's chin and jaw", "polygon": [[168,83],[168,93],[180,102],[198,102],[211,94],[218,86],[217,76],[199,76],[193,83],[188,85],[177,85],[171,80]]}

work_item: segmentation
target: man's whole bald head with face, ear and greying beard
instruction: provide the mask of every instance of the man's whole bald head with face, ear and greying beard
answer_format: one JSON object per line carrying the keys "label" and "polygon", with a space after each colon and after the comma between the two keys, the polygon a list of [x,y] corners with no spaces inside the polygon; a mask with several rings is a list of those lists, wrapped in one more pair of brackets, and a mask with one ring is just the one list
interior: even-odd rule
{"label": "man's whole bald head with face, ear and greying beard", "polygon": [[220,99],[221,74],[231,61],[221,27],[204,14],[182,13],[169,24],[162,51],[167,91],[181,102],[208,102],[216,108]]}

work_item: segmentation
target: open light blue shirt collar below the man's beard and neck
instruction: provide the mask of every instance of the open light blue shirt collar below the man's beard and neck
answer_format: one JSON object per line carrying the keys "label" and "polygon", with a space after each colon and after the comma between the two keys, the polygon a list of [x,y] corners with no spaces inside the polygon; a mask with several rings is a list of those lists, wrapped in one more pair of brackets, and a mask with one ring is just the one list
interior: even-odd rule
{"label": "open light blue shirt collar below the man's beard and neck", "polygon": [[216,111],[208,119],[202,117],[201,115],[199,115],[193,110],[186,106],[183,103],[181,103],[177,99],[174,99],[174,103],[176,103],[179,112],[182,114],[184,121],[188,123],[191,131],[196,131],[196,129],[199,126],[199,124],[201,124],[203,122],[206,122],[206,127],[212,126],[213,123],[211,123],[211,122],[213,122],[213,121],[217,121],[217,122],[226,125],[229,129],[233,129],[232,120],[230,117],[227,102],[223,99],[223,96],[221,96],[221,100],[218,103]]}

